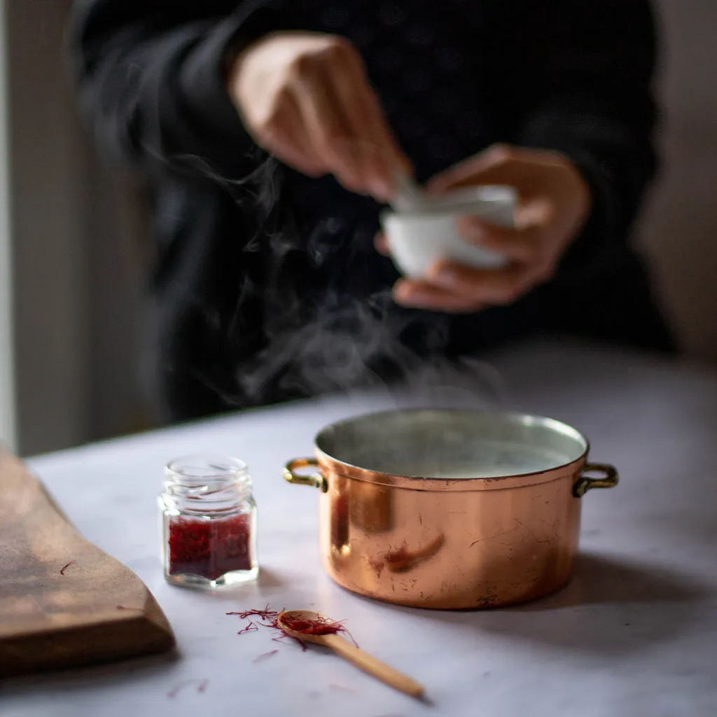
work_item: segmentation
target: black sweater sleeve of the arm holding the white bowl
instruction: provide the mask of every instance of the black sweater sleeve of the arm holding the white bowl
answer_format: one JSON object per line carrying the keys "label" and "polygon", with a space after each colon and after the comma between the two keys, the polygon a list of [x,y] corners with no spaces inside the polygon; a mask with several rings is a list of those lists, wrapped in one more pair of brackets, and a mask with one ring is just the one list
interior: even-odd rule
{"label": "black sweater sleeve of the arm holding the white bowl", "polygon": [[564,273],[609,260],[625,244],[655,173],[651,82],[655,28],[648,0],[558,0],[538,37],[540,94],[516,143],[571,158],[593,209],[564,257]]}

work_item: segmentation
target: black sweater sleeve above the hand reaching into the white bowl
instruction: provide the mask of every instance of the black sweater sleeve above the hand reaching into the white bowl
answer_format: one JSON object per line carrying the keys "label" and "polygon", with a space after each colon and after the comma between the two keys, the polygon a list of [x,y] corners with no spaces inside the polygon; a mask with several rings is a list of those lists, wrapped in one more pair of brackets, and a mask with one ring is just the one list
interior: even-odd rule
{"label": "black sweater sleeve above the hand reaching into the white bowl", "polygon": [[280,0],[79,0],[70,58],[110,161],[240,179],[254,144],[225,85],[228,53],[285,27]]}

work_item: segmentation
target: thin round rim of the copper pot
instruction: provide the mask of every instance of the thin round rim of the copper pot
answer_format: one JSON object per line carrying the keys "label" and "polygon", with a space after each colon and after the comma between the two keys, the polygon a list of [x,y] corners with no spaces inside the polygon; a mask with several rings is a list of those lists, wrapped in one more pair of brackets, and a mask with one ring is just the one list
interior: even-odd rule
{"label": "thin round rim of the copper pot", "polygon": [[[318,443],[324,432],[335,429],[342,424],[356,422],[359,419],[378,418],[387,414],[408,414],[408,413],[451,413],[466,414],[475,416],[475,414],[494,414],[496,417],[503,417],[509,421],[517,421],[523,424],[541,424],[551,430],[556,430],[574,437],[584,442],[584,450],[578,457],[565,463],[554,465],[553,467],[538,470],[531,473],[518,473],[514,475],[499,475],[489,478],[422,478],[417,475],[394,475],[391,473],[382,473],[381,471],[371,470],[358,465],[352,465],[322,450]],[[316,457],[320,465],[331,473],[342,475],[353,480],[361,480],[364,483],[373,483],[374,485],[385,485],[391,488],[404,488],[407,490],[424,490],[433,492],[445,491],[464,491],[470,492],[475,490],[506,490],[509,488],[524,488],[528,485],[538,485],[541,483],[549,483],[552,480],[561,478],[574,478],[581,467],[587,462],[587,455],[590,450],[590,443],[579,430],[571,425],[546,416],[538,416],[535,414],[522,413],[518,411],[478,411],[469,409],[440,409],[440,408],[411,408],[411,409],[390,409],[387,411],[376,411],[360,416],[353,416],[340,421],[333,422],[323,427],[314,439],[314,449]]]}

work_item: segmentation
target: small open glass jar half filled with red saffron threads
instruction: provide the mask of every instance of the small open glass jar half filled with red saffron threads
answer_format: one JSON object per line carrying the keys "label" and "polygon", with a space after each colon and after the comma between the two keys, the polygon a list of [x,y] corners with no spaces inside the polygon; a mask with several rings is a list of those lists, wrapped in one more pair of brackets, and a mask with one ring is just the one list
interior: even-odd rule
{"label": "small open glass jar half filled with red saffron threads", "polygon": [[212,589],[254,580],[257,505],[247,464],[192,455],[164,468],[162,561],[174,585]]}

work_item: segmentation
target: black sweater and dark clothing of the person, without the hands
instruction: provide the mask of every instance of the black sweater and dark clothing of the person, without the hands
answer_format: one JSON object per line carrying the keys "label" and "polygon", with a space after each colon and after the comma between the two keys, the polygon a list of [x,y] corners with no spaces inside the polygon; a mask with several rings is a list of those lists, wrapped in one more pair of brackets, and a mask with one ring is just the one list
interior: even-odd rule
{"label": "black sweater and dark clothing of the person, without the hands", "polygon": [[[402,309],[379,205],[260,151],[227,59],[277,29],[364,57],[419,180],[495,142],[556,149],[593,212],[557,277],[474,315]],[[630,227],[655,171],[646,0],[84,0],[82,108],[153,206],[155,383],[171,419],[389,379],[531,333],[668,349]]]}

